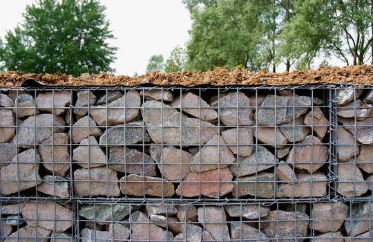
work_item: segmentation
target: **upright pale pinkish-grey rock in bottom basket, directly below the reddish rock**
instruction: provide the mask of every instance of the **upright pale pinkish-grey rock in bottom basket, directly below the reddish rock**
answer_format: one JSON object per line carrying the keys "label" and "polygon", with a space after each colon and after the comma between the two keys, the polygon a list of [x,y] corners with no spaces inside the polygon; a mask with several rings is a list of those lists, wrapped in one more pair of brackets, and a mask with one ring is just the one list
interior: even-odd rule
{"label": "upright pale pinkish-grey rock in bottom basket, directly below the reddish rock", "polygon": [[216,241],[230,240],[227,217],[223,207],[203,206],[198,208],[198,221]]}

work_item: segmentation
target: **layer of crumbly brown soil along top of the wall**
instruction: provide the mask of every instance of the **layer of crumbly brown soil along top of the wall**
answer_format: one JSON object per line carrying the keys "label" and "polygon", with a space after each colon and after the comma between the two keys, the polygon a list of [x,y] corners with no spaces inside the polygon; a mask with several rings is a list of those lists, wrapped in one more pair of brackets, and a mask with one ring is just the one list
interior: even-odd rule
{"label": "layer of crumbly brown soil along top of the wall", "polygon": [[328,67],[317,70],[291,71],[284,73],[249,73],[242,68],[216,68],[214,71],[191,73],[147,73],[140,77],[99,73],[83,74],[80,77],[61,73],[31,74],[16,71],[0,73],[0,86],[23,86],[26,81],[34,80],[46,86],[137,86],[155,84],[160,86],[196,86],[208,84],[224,85],[291,85],[291,84],[373,84],[373,65]]}

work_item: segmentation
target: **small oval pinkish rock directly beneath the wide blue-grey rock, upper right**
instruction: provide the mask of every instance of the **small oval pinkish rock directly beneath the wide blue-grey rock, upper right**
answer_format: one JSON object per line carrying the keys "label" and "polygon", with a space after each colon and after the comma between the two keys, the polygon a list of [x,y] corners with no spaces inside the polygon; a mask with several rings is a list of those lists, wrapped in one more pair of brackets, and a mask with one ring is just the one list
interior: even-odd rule
{"label": "small oval pinkish rock directly beneath the wide blue-grey rock, upper right", "polygon": [[272,127],[257,127],[256,131],[253,131],[253,135],[255,138],[258,139],[259,142],[262,142],[263,144],[269,145],[271,147],[276,147],[277,149],[283,149],[287,144],[287,138],[278,128],[275,129]]}

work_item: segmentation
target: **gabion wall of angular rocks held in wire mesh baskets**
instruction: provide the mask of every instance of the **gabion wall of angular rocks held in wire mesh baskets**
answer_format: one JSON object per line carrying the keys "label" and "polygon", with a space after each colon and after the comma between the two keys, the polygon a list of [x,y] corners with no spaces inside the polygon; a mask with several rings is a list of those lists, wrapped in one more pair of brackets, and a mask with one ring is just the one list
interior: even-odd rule
{"label": "gabion wall of angular rocks held in wire mesh baskets", "polygon": [[0,89],[0,241],[373,241],[373,86]]}

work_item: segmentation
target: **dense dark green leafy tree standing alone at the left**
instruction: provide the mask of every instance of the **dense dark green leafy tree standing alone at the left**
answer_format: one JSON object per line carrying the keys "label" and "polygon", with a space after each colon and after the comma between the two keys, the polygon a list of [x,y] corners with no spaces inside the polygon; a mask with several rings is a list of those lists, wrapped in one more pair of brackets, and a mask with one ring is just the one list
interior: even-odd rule
{"label": "dense dark green leafy tree standing alone at the left", "polygon": [[39,0],[26,7],[23,24],[8,31],[0,62],[8,70],[32,73],[113,71],[117,48],[105,7],[98,0]]}

